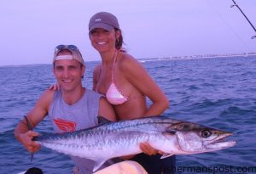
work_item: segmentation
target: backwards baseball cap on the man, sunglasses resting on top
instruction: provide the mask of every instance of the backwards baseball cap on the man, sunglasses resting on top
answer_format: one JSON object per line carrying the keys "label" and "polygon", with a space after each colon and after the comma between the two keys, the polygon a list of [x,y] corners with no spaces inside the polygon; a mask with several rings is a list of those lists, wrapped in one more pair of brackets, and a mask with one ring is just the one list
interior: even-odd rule
{"label": "backwards baseball cap on the man, sunglasses resting on top", "polygon": [[[72,53],[72,55],[58,55],[58,53],[61,52],[61,50],[67,49]],[[55,55],[53,58],[53,63],[55,63],[56,60],[59,59],[75,59],[79,61],[82,65],[84,65],[84,59],[82,54],[79,51],[79,48],[77,48],[75,45],[58,45],[55,47]]]}

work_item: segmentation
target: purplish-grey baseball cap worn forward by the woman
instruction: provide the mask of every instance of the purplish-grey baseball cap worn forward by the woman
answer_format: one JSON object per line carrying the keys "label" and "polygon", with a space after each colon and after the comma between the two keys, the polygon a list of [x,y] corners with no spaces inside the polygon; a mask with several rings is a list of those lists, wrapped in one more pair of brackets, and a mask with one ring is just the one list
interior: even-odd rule
{"label": "purplish-grey baseball cap worn forward by the woman", "polygon": [[102,28],[106,31],[111,31],[113,28],[119,29],[119,21],[113,14],[99,12],[90,18],[89,32],[96,28]]}

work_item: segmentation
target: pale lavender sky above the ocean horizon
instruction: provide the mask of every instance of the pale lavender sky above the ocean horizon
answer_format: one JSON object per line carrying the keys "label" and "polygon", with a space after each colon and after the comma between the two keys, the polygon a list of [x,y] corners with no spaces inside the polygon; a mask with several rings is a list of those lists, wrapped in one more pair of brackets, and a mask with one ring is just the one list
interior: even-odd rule
{"label": "pale lavender sky above the ocean horizon", "polygon": [[[256,27],[256,1],[236,0]],[[255,31],[232,0],[1,0],[0,66],[51,64],[55,46],[74,44],[101,60],[88,23],[114,14],[136,59],[256,52]]]}

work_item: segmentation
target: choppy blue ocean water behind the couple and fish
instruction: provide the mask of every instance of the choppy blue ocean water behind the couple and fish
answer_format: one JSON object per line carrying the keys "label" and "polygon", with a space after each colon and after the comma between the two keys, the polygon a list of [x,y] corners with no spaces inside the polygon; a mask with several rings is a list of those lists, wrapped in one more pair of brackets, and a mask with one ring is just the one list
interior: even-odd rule
{"label": "choppy blue ocean water behind the couple and fish", "polygon": [[[92,70],[96,64],[87,63],[85,87],[92,87]],[[237,141],[235,147],[205,154],[178,155],[177,166],[197,167],[194,173],[202,173],[202,167],[216,167],[219,172],[215,173],[231,173],[224,171],[224,167],[232,167],[236,173],[256,173],[252,168],[256,167],[255,56],[146,60],[143,66],[170,100],[170,108],[164,115],[235,133],[232,138]],[[50,149],[41,149],[31,162],[30,154],[13,135],[23,115],[32,109],[44,89],[55,83],[51,65],[3,66],[0,81],[0,173],[18,173],[32,166],[49,174],[71,173],[73,162]],[[36,131],[51,132],[49,120],[41,122]]]}

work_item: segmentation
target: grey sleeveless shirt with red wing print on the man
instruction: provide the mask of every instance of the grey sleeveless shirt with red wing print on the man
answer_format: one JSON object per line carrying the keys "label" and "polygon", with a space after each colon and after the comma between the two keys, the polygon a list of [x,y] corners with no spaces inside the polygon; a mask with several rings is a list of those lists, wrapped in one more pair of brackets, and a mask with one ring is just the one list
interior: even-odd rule
{"label": "grey sleeveless shirt with red wing print on the man", "polygon": [[[68,105],[63,99],[61,90],[55,92],[49,107],[49,118],[55,132],[73,132],[96,126],[99,100],[102,95],[85,89],[83,97],[75,104]],[[79,168],[80,174],[91,174],[93,160],[70,156]]]}

